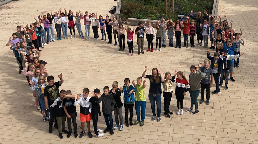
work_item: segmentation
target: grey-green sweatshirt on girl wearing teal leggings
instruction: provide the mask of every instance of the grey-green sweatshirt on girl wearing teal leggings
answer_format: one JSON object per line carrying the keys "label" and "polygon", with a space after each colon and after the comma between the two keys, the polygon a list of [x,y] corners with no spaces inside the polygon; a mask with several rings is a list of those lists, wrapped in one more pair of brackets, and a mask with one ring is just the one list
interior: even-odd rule
{"label": "grey-green sweatshirt on girl wearing teal leggings", "polygon": [[201,90],[201,80],[204,78],[204,74],[198,70],[195,74],[190,73],[189,75],[189,84],[191,90]]}

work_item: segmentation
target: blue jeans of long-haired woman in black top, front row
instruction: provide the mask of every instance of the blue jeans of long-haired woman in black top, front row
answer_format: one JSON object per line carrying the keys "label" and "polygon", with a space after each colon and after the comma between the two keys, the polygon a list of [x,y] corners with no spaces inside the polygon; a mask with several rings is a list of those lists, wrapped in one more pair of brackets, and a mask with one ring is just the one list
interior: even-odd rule
{"label": "blue jeans of long-haired woman in black top, front row", "polygon": [[149,100],[151,103],[151,111],[153,116],[156,116],[156,109],[155,109],[155,101],[157,104],[157,109],[158,109],[158,117],[160,117],[160,113],[161,113],[161,95],[157,95],[157,96],[153,96],[152,94],[149,93]]}

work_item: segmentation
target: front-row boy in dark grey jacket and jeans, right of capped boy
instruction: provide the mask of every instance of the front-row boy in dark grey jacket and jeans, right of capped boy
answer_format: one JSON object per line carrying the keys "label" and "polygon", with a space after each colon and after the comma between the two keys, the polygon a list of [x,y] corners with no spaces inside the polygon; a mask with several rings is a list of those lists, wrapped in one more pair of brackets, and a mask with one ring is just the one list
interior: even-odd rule
{"label": "front-row boy in dark grey jacket and jeans, right of capped boy", "polygon": [[112,113],[115,106],[115,100],[114,100],[114,97],[109,93],[108,86],[105,86],[103,88],[103,94],[100,97],[98,96],[97,103],[99,104],[101,103],[101,101],[103,101],[102,112],[107,125],[107,128],[104,130],[104,133],[110,131],[110,134],[113,135],[114,131],[113,131]]}

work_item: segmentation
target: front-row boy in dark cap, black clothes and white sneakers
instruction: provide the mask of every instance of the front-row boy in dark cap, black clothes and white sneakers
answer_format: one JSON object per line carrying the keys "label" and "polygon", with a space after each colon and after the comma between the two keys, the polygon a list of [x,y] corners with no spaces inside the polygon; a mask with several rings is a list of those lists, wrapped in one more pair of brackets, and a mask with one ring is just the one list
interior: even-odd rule
{"label": "front-row boy in dark cap, black clothes and white sneakers", "polygon": [[[93,92],[91,92],[91,98],[89,99],[89,102],[91,102],[91,116],[93,121],[93,127],[96,137],[103,137],[104,134],[101,133],[103,130],[98,129],[98,117],[101,116],[99,103],[97,103],[99,97],[101,96],[100,90],[98,88],[94,89]],[[100,133],[99,133],[100,132]]]}

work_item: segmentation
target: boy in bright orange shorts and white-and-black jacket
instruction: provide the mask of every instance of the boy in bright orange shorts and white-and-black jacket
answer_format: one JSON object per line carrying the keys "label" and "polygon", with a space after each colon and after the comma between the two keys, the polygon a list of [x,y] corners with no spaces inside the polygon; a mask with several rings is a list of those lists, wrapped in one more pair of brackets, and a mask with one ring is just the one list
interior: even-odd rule
{"label": "boy in bright orange shorts and white-and-black jacket", "polygon": [[88,136],[92,138],[92,134],[90,132],[90,120],[92,119],[91,117],[91,103],[89,102],[90,97],[88,96],[90,90],[88,88],[83,89],[83,94],[78,94],[76,101],[74,101],[74,106],[80,104],[80,118],[81,118],[81,127],[82,131],[79,136],[81,138],[82,136],[85,135],[85,121],[87,124],[87,129],[88,129]]}

